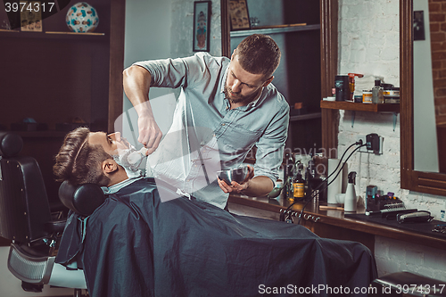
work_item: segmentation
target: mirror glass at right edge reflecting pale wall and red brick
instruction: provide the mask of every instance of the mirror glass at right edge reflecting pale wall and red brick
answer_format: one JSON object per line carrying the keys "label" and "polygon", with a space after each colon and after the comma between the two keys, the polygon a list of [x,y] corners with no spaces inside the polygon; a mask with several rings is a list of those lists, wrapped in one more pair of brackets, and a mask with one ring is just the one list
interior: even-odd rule
{"label": "mirror glass at right edge reflecting pale wall and red brick", "polygon": [[446,173],[444,4],[413,0],[414,169],[441,173]]}

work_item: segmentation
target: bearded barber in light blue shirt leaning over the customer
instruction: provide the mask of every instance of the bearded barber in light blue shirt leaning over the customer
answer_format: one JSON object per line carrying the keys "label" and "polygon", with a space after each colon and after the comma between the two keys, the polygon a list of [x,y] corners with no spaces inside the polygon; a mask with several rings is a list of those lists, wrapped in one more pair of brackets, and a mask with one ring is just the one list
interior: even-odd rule
{"label": "bearded barber in light blue shirt leaning over the customer", "polygon": [[[220,208],[231,192],[268,194],[283,160],[289,121],[288,103],[271,84],[279,62],[276,42],[254,34],[230,60],[197,53],[136,62],[124,70],[124,91],[138,114],[138,141],[152,154],[155,177]],[[150,87],[181,87],[172,127],[162,141]],[[241,165],[253,145],[256,162],[243,183],[216,179],[217,170]]]}

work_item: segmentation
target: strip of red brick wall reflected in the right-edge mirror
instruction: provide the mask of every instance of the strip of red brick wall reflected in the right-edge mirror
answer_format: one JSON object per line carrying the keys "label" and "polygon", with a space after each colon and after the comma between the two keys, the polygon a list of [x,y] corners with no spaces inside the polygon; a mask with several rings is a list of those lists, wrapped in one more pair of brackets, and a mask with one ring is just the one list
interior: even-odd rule
{"label": "strip of red brick wall reflected in the right-edge mirror", "polygon": [[429,0],[435,119],[446,124],[446,1]]}

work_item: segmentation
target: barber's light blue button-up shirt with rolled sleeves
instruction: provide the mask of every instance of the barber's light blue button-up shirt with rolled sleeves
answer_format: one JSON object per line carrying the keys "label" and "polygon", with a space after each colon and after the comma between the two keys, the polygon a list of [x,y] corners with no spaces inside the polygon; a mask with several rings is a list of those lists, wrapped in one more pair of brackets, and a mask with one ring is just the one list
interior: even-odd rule
{"label": "barber's light blue button-up shirt with rolled sleeves", "polygon": [[289,105],[272,84],[256,101],[230,110],[224,95],[229,62],[197,53],[135,63],[151,73],[151,87],[181,87],[172,126],[149,156],[154,176],[220,208],[228,194],[216,171],[240,166],[253,145],[254,175],[276,182],[289,123]]}

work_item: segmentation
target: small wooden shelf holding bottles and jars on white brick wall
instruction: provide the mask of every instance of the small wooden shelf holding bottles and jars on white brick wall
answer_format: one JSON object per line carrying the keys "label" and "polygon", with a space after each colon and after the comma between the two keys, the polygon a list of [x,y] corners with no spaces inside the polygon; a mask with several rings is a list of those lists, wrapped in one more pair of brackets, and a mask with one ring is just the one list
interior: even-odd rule
{"label": "small wooden shelf holding bottles and jars on white brick wall", "polygon": [[400,104],[391,103],[351,103],[345,101],[320,102],[320,108],[344,111],[370,111],[370,112],[400,112]]}

